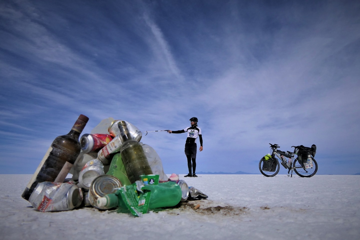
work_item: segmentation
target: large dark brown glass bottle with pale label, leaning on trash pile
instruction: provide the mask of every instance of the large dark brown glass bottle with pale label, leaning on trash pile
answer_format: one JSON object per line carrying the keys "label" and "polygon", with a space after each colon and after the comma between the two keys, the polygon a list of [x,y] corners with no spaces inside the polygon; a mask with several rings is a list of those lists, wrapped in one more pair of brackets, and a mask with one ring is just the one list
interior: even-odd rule
{"label": "large dark brown glass bottle with pale label, leaning on trash pile", "polygon": [[79,136],[87,121],[89,118],[81,114],[67,135],[55,138],[21,195],[24,199],[29,200],[39,182],[64,182],[80,154]]}

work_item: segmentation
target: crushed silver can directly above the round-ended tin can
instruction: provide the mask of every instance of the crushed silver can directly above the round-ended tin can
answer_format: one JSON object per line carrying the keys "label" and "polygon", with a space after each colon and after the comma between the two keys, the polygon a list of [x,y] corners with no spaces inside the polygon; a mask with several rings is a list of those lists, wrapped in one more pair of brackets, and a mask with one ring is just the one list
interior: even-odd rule
{"label": "crushed silver can directly above the round-ended tin can", "polygon": [[104,174],[104,165],[102,162],[100,162],[99,159],[90,160],[85,164],[79,173],[78,185],[86,190],[89,190],[91,182],[96,177]]}

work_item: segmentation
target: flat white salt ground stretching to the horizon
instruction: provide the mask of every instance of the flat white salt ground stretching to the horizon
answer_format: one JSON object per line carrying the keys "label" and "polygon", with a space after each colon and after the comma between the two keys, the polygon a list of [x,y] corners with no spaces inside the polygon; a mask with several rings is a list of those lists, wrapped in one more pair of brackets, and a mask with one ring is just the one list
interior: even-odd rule
{"label": "flat white salt ground stretching to the horizon", "polygon": [[38,212],[21,198],[31,175],[0,175],[1,239],[359,239],[360,176],[182,176],[208,199],[133,217]]}

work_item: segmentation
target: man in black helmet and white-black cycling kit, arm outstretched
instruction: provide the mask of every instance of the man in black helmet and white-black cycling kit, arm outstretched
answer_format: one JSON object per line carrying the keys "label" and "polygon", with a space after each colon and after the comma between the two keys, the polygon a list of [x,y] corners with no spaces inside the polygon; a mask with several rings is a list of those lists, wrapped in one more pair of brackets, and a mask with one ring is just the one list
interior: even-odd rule
{"label": "man in black helmet and white-black cycling kit, arm outstretched", "polygon": [[[195,174],[196,169],[196,139],[199,137],[200,139],[200,148],[199,150],[202,151],[202,136],[201,136],[201,128],[198,127],[198,119],[197,118],[190,118],[190,127],[186,127],[183,130],[178,131],[171,131],[167,130],[168,133],[188,133],[188,137],[186,138],[185,143],[185,155],[188,159],[188,168],[189,174],[184,177],[197,177]],[[191,162],[193,162],[191,164]],[[191,173],[191,167],[193,167],[193,173]]]}

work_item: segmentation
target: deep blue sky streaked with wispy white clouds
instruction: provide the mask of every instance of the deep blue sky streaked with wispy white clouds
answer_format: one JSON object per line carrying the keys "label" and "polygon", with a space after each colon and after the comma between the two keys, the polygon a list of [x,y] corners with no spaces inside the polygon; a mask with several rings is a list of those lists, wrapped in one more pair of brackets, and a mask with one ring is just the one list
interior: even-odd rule
{"label": "deep blue sky streaked with wispy white clouds", "polygon": [[[32,174],[80,114],[141,131],[197,117],[197,172],[260,173],[269,143],[360,172],[359,1],[0,1],[0,174]],[[166,173],[186,135],[153,132]],[[199,145],[199,144],[198,144]],[[282,168],[280,173],[285,173]]]}

